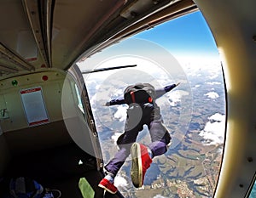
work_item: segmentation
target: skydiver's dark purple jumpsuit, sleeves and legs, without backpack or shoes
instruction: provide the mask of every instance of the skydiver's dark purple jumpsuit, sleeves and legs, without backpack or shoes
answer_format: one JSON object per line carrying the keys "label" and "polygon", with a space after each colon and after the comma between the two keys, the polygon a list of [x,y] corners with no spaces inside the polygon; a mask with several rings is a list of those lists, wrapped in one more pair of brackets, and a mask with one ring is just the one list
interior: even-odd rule
{"label": "skydiver's dark purple jumpsuit, sleeves and legs, without backpack or shoes", "polygon": [[[176,84],[172,84],[165,88],[156,89],[155,98],[160,98],[175,87]],[[112,99],[109,102],[109,105],[122,104],[125,104],[125,99]],[[112,174],[113,177],[116,176],[126,158],[130,155],[131,144],[136,142],[138,133],[143,130],[143,125],[147,125],[151,137],[151,144],[148,144],[148,148],[152,152],[152,158],[166,153],[167,144],[170,143],[172,138],[163,124],[160,107],[154,101],[145,104],[132,103],[127,109],[125,132],[117,140],[119,150],[105,166],[107,173]]]}

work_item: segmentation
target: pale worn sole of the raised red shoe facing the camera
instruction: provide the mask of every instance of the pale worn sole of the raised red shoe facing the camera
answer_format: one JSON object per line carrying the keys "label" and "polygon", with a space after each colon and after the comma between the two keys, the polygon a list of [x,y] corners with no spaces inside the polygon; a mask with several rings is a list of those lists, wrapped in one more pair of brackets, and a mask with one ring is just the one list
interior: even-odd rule
{"label": "pale worn sole of the raised red shoe facing the camera", "polygon": [[136,188],[143,185],[143,166],[140,144],[131,145],[131,181]]}

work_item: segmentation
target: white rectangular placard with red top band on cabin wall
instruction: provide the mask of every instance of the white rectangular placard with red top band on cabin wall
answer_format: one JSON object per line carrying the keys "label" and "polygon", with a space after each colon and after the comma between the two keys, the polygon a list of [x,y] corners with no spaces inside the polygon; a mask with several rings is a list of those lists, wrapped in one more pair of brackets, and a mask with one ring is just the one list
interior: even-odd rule
{"label": "white rectangular placard with red top band on cabin wall", "polygon": [[49,122],[41,87],[22,89],[20,90],[20,97],[29,126]]}

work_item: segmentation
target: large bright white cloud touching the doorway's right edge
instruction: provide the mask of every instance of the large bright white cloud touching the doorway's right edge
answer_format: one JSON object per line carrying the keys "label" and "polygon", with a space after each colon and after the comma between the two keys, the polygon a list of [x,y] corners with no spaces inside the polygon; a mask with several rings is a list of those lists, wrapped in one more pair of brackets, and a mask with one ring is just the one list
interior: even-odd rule
{"label": "large bright white cloud touching the doorway's right edge", "polygon": [[225,116],[216,113],[208,117],[204,129],[199,133],[203,137],[203,143],[207,145],[211,144],[223,144],[224,143],[224,130],[225,130]]}

